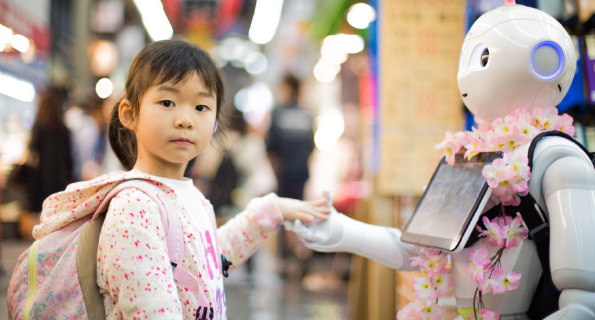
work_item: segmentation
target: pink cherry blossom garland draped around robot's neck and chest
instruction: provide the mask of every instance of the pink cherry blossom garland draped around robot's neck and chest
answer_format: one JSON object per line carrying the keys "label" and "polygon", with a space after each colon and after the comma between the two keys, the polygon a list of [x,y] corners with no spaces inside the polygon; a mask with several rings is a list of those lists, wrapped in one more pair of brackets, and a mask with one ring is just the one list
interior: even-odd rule
{"label": "pink cherry blossom garland draped around robot's neck and chest", "polygon": [[[572,117],[567,114],[558,116],[558,109],[535,108],[532,113],[524,108],[512,111],[504,119],[498,118],[492,123],[478,121],[478,128],[472,131],[446,133],[445,139],[436,145],[436,149],[444,150],[446,161],[453,165],[455,155],[464,153],[470,160],[481,152],[501,151],[504,156],[496,159],[491,165],[483,168],[482,175],[492,189],[491,200],[500,204],[500,215],[490,221],[483,217],[485,230],[477,226],[483,242],[498,248],[496,254],[488,258],[488,250],[483,247],[471,249],[471,262],[465,269],[471,279],[477,283],[473,298],[474,312],[467,314],[467,319],[495,320],[500,318],[498,312],[486,309],[482,295],[501,294],[515,290],[519,286],[521,275],[508,272],[502,267],[501,258],[504,250],[517,247],[527,239],[528,230],[524,228],[522,218],[507,216],[504,206],[518,206],[520,196],[529,192],[528,181],[531,170],[528,158],[513,151],[526,145],[542,131],[559,130],[574,135]],[[442,310],[438,305],[438,297],[444,296],[452,287],[452,277],[448,274],[446,253],[434,249],[421,249],[421,254],[411,258],[412,266],[419,266],[422,277],[413,281],[415,296],[418,300],[409,303],[397,314],[398,320],[439,320]],[[476,308],[477,306],[477,308]]]}

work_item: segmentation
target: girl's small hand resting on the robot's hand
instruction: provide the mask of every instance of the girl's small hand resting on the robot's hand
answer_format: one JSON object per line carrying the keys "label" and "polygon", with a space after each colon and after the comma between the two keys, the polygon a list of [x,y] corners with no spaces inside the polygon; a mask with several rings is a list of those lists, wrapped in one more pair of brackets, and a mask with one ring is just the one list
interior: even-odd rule
{"label": "girl's small hand resting on the robot's hand", "polygon": [[285,220],[301,222],[312,222],[314,218],[326,220],[331,208],[326,207],[327,199],[322,198],[314,201],[301,201],[291,198],[277,198],[277,205]]}

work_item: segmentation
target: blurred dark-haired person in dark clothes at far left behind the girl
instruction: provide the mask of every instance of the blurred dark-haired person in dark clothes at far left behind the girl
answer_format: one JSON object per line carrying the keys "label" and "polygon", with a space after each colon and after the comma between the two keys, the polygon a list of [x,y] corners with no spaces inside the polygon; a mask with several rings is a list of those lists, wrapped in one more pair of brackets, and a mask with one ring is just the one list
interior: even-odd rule
{"label": "blurred dark-haired person in dark clothes at far left behind the girl", "polygon": [[63,120],[63,95],[55,88],[41,95],[31,129],[29,157],[33,170],[28,181],[27,209],[36,215],[45,198],[73,182],[71,136]]}

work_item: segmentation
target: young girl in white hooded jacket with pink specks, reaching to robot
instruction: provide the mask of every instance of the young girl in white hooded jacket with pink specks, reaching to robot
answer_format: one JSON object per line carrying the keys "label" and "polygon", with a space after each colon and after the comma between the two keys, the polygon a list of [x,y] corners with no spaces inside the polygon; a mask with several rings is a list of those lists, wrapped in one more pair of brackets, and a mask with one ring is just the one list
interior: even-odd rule
{"label": "young girl in white hooded jacket with pink specks, reaching to robot", "polygon": [[234,268],[283,220],[326,218],[324,199],[269,194],[212,230],[212,207],[183,173],[217,131],[223,96],[218,68],[192,44],[156,42],[134,59],[109,140],[129,177],[162,182],[174,200],[184,233],[182,267],[199,278],[206,300],[174,281],[156,203],[126,189],[111,201],[99,238],[97,284],[108,319],[226,319],[218,252]]}

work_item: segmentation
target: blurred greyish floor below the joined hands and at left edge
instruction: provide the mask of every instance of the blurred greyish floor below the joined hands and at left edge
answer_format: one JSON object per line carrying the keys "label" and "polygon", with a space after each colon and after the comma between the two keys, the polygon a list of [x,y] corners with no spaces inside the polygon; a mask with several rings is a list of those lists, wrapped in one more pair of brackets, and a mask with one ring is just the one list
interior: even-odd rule
{"label": "blurred greyish floor below the joined hands and at left edge", "polygon": [[[0,258],[6,273],[0,276],[0,320],[8,319],[6,292],[19,255],[31,244],[22,240],[3,240]],[[282,280],[276,273],[277,260],[261,249],[254,256],[254,272],[238,268],[225,282],[228,319],[347,319],[347,284],[328,275],[331,268],[345,270],[349,259],[333,255],[317,256],[307,280]],[[337,267],[339,265],[339,267]],[[330,281],[329,279],[334,279]],[[310,288],[310,290],[304,287]]]}

